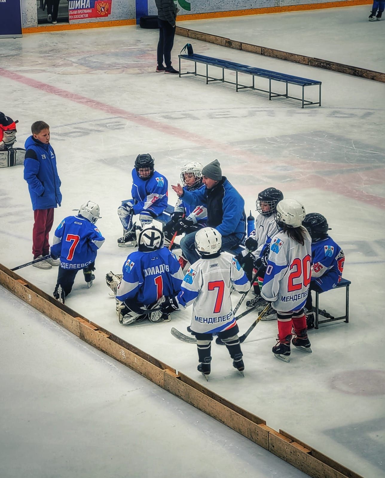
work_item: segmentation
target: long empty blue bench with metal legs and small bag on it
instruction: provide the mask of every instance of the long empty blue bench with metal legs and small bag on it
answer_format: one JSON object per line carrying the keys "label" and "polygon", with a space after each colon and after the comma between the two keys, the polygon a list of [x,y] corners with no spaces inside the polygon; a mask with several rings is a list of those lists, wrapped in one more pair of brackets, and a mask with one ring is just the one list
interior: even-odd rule
{"label": "long empty blue bench with metal legs and small bag on it", "polygon": [[[181,60],[188,60],[193,61],[195,68],[194,71],[187,71],[186,73],[181,73]],[[202,75],[197,73],[196,65],[197,63],[201,63],[206,65],[206,74]],[[215,78],[214,76],[209,76],[208,67],[215,66],[217,68],[222,68],[222,78]],[[225,70],[235,71],[235,82],[225,80]],[[238,74],[246,74],[251,75],[253,77],[252,86],[242,85],[238,81]],[[240,89],[253,89],[257,91],[264,91],[265,93],[269,94],[269,100],[275,97],[284,97],[284,98],[291,98],[291,99],[298,99],[302,102],[302,108],[308,105],[319,105],[321,106],[321,81],[310,80],[309,78],[301,78],[300,76],[293,76],[293,75],[285,75],[284,73],[278,73],[276,71],[264,70],[263,68],[257,68],[255,66],[248,66],[242,65],[241,63],[235,63],[228,60],[221,60],[218,58],[213,58],[211,56],[204,56],[200,54],[180,54],[179,55],[179,76],[182,75],[195,75],[195,76],[203,76],[206,78],[206,85],[210,81],[221,81],[222,83],[230,83],[231,85],[235,85],[236,91],[238,92]],[[260,76],[262,78],[267,78],[269,80],[269,89],[262,89],[257,88],[255,86],[255,77]],[[286,93],[276,93],[271,90],[271,82],[278,81],[283,82],[286,84]],[[289,96],[289,87],[288,85],[296,85],[302,88],[302,97],[297,98],[294,96]],[[318,101],[310,101],[305,99],[305,87],[308,86],[319,86],[319,99]]]}

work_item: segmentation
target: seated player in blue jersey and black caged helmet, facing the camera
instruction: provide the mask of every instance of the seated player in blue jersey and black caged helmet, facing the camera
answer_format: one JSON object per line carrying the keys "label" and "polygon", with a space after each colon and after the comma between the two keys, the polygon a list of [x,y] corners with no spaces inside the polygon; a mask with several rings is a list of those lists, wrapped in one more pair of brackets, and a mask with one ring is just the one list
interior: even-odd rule
{"label": "seated player in blue jersey and black caged helmet, facing the camera", "polygon": [[137,237],[133,216],[139,214],[140,227],[150,224],[167,207],[168,182],[163,174],[154,171],[150,154],[139,154],[132,170],[132,199],[122,201],[118,216],[123,225],[119,247],[136,247]]}

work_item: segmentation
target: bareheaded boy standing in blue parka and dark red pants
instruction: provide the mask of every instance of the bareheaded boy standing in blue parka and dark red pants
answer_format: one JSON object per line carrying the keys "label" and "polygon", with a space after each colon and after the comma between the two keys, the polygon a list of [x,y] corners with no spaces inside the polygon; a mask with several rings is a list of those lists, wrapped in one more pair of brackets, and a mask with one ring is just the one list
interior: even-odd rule
{"label": "bareheaded boy standing in blue parka and dark red pants", "polygon": [[[37,259],[49,254],[49,233],[53,225],[53,209],[60,206],[62,184],[57,174],[56,157],[50,144],[50,127],[44,121],[35,121],[32,136],[25,141],[24,179],[28,183],[35,222],[32,231],[32,254]],[[33,264],[39,269],[58,266],[52,258]]]}

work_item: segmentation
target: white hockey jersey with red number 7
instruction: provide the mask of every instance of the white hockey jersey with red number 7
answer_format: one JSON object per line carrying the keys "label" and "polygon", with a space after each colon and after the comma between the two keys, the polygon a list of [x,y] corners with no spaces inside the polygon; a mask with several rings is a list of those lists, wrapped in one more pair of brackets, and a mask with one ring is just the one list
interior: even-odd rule
{"label": "white hockey jersey with red number 7", "polygon": [[231,284],[239,292],[250,288],[239,262],[228,252],[211,259],[199,259],[189,268],[177,300],[181,308],[193,304],[191,329],[194,332],[216,334],[234,326]]}

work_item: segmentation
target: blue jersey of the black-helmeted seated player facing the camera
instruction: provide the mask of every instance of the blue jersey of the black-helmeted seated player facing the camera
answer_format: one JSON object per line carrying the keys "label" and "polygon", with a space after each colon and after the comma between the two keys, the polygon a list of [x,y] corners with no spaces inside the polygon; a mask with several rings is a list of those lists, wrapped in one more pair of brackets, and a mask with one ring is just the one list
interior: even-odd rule
{"label": "blue jersey of the black-helmeted seated player facing the camera", "polygon": [[141,179],[134,168],[132,170],[131,195],[135,201],[134,214],[148,211],[159,216],[167,207],[168,182],[163,174],[154,171],[150,179]]}

